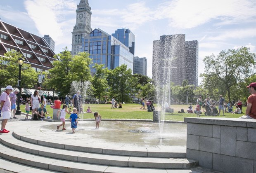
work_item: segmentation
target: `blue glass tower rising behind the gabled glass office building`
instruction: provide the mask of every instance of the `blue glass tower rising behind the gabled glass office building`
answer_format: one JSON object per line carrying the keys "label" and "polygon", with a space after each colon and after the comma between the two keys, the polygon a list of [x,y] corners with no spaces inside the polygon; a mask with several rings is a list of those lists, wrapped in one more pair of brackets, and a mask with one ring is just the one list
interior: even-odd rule
{"label": "blue glass tower rising behind the gabled glass office building", "polygon": [[129,29],[118,29],[112,34],[117,40],[129,48],[130,53],[135,52],[135,35]]}

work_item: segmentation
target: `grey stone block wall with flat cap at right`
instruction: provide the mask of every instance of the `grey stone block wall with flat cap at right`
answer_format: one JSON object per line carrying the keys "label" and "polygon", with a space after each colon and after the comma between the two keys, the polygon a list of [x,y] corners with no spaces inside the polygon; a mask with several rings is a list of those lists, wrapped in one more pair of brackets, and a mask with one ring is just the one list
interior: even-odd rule
{"label": "grey stone block wall with flat cap at right", "polygon": [[256,120],[185,118],[187,158],[225,173],[256,173]]}

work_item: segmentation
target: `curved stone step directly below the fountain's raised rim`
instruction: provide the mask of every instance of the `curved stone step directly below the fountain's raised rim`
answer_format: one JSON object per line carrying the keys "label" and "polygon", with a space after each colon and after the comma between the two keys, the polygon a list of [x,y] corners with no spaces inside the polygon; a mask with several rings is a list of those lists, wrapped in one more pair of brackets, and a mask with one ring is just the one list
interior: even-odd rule
{"label": "curved stone step directly below the fountain's raised rim", "polygon": [[197,161],[180,158],[130,157],[113,154],[98,154],[57,149],[33,143],[27,143],[25,141],[14,138],[12,135],[1,136],[0,142],[10,148],[14,148],[15,150],[36,154],[43,157],[78,161],[88,164],[97,163],[111,166],[178,169],[191,168],[198,165]]}

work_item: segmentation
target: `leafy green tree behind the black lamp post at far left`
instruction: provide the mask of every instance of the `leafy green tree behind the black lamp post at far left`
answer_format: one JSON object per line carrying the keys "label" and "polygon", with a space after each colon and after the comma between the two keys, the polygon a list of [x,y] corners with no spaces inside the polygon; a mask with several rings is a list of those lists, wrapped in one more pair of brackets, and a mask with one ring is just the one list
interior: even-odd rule
{"label": "leafy green tree behind the black lamp post at far left", "polygon": [[[19,80],[19,64],[18,59],[24,56],[20,52],[7,52],[4,56],[0,56],[0,87],[12,85],[17,87]],[[21,67],[21,88],[33,88],[37,84],[38,73],[31,68],[30,64],[23,63]]]}

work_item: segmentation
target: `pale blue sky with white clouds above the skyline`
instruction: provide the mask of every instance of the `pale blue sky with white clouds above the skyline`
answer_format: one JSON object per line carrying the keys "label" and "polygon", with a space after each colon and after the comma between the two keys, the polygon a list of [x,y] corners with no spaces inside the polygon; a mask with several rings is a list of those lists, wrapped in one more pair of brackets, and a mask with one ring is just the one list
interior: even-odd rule
{"label": "pale blue sky with white clouds above the skyline", "polygon": [[[0,19],[38,36],[50,35],[55,53],[71,50],[72,30],[80,0],[0,0]],[[129,28],[135,56],[147,58],[152,77],[153,41],[161,35],[185,34],[199,42],[199,74],[203,59],[222,50],[250,47],[256,52],[255,0],[88,0],[91,27],[108,34]],[[199,84],[201,78],[199,78]]]}

